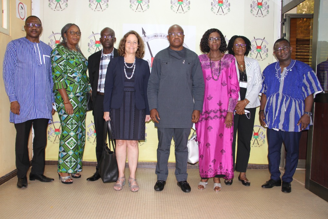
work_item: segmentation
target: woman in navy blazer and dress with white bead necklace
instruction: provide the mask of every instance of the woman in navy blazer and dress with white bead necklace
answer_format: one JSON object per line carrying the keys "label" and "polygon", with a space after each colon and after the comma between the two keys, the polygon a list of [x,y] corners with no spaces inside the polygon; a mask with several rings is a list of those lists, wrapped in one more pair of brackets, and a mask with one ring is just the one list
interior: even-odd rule
{"label": "woman in navy blazer and dress with white bead necklace", "polygon": [[125,185],[125,162],[128,156],[130,190],[139,186],[135,172],[138,164],[138,141],[145,140],[145,122],[150,121],[147,86],[150,76],[142,38],[135,31],[126,33],[120,41],[119,56],[113,58],[105,79],[104,119],[110,120],[116,139],[118,180],[114,189]]}

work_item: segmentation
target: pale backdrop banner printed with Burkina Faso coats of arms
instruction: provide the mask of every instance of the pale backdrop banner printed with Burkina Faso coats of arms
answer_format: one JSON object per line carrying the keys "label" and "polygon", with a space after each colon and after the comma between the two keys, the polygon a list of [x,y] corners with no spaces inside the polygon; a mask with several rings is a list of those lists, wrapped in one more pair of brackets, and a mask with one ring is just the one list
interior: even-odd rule
{"label": "pale backdrop banner printed with Burkina Faso coats of arms", "polygon": [[[41,40],[54,48],[62,40],[60,31],[67,23],[75,23],[82,32],[80,47],[88,57],[101,50],[100,31],[110,27],[118,43],[130,30],[144,39],[144,59],[151,66],[152,58],[169,46],[168,28],[179,24],[185,32],[184,46],[198,55],[200,39],[206,30],[219,29],[228,41],[233,35],[244,35],[252,43],[250,57],[259,61],[263,70],[276,61],[273,43],[280,35],[281,0],[35,0],[32,14],[43,24]],[[96,132],[92,113],[87,114],[85,161],[95,160]],[[156,161],[157,132],[153,122],[146,125],[147,137],[139,145],[139,161]],[[46,158],[58,158],[58,138],[61,132],[57,116],[49,126]],[[250,163],[267,164],[266,130],[256,119],[252,138]],[[173,148],[172,148],[173,149]],[[170,162],[174,162],[171,153]]]}

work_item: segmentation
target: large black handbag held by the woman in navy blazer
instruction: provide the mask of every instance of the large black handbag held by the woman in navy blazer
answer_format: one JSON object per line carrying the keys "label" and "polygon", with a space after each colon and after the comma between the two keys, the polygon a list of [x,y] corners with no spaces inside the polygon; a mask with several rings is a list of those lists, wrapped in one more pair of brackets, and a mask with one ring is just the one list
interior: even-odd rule
{"label": "large black handbag held by the woman in navy blazer", "polygon": [[[107,132],[109,133],[110,142],[112,142],[113,145],[113,151],[111,151],[111,145],[109,145],[108,147],[107,144]],[[115,145],[109,121],[105,122],[104,127],[104,147],[99,162],[99,175],[103,183],[116,182],[118,178],[118,166],[115,155]]]}

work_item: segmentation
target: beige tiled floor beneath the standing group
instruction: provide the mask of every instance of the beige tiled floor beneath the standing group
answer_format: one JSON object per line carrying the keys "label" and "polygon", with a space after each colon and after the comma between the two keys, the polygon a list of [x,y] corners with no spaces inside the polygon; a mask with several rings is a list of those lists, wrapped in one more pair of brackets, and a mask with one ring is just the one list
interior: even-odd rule
{"label": "beige tiled floor beneath the standing group", "polygon": [[169,169],[161,192],[153,188],[154,169],[137,170],[138,192],[128,185],[114,191],[114,183],[86,181],[94,169],[83,167],[82,178],[71,185],[60,183],[55,165],[46,165],[45,175],[55,178],[51,183],[29,181],[28,188],[18,189],[17,178],[11,179],[0,186],[0,218],[328,218],[328,202],[304,188],[304,170],[297,170],[292,192],[283,193],[281,187],[261,188],[268,170],[247,170],[249,187],[238,180],[226,186],[221,179],[222,190],[215,192],[212,179],[205,190],[198,190],[198,170],[188,169],[192,191],[184,193],[174,169]]}

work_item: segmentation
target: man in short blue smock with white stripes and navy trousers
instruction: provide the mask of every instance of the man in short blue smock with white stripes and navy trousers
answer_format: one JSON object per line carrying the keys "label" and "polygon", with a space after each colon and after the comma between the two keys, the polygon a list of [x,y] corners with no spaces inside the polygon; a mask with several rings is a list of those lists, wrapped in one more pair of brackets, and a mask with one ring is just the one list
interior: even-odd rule
{"label": "man in short blue smock with white stripes and navy trousers", "polygon": [[[314,96],[322,91],[317,76],[308,64],[291,58],[292,47],[286,39],[274,44],[278,62],[263,71],[259,119],[266,126],[270,180],[263,188],[281,186],[291,192],[291,182],[298,163],[301,131],[312,125]],[[286,147],[285,173],[280,179],[280,150]],[[282,180],[282,183],[281,183]]]}

